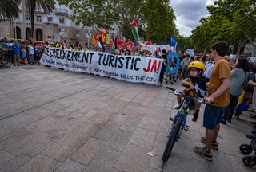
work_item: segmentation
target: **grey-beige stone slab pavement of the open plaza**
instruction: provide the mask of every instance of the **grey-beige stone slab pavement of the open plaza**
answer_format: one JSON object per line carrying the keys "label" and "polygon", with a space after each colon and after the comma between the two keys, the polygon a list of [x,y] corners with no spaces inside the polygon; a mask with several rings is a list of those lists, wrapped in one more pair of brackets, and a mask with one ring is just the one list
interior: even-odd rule
{"label": "grey-beige stone slab pavement of the open plaza", "polygon": [[163,164],[174,104],[165,87],[43,65],[0,68],[0,172],[255,171],[239,151],[250,143],[248,112],[222,125],[213,162],[194,153],[203,146],[204,105],[197,123],[188,117],[191,131],[183,131]]}

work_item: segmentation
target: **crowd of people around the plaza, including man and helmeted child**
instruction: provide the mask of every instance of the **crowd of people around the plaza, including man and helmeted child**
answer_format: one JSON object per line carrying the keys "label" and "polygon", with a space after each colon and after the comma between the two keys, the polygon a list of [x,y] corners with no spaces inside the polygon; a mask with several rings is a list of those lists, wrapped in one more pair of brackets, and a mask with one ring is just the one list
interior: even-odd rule
{"label": "crowd of people around the plaza, including man and helmeted child", "polygon": [[[40,64],[40,57],[44,46],[51,46],[72,51],[98,51],[103,52],[101,47],[95,45],[71,45],[69,42],[56,42],[49,44],[45,42],[33,41],[10,41],[0,40],[0,51],[10,55],[12,63],[16,65],[36,65]],[[168,76],[167,57],[168,53],[162,49],[161,56],[158,53],[150,51],[141,51],[140,49],[110,49],[110,45],[104,47],[105,53],[125,56],[141,56],[161,58],[162,68],[159,76],[159,85],[162,86],[165,76]],[[201,91],[198,96],[206,96],[206,108],[204,110],[203,127],[206,128],[205,136],[201,138],[206,147],[194,147],[194,151],[207,160],[212,160],[213,154],[211,148],[218,149],[218,132],[220,124],[231,123],[231,119],[238,118],[242,111],[238,107],[239,96],[244,92],[245,86],[251,86],[246,89],[246,109],[250,111],[250,117],[256,118],[256,80],[255,70],[256,61],[250,62],[245,56],[230,58],[229,46],[226,42],[218,41],[211,45],[210,53],[203,55],[190,56],[184,51],[178,52],[180,60],[177,78],[182,80],[182,84],[190,86],[190,89],[199,88]],[[175,63],[175,61],[173,61]],[[244,82],[242,82],[244,80]],[[186,89],[183,90],[186,94]],[[174,108],[181,108],[181,97],[177,97]],[[196,104],[195,108],[189,112],[194,115],[200,108]],[[246,135],[250,139],[256,139],[256,122],[254,124],[253,135]]]}

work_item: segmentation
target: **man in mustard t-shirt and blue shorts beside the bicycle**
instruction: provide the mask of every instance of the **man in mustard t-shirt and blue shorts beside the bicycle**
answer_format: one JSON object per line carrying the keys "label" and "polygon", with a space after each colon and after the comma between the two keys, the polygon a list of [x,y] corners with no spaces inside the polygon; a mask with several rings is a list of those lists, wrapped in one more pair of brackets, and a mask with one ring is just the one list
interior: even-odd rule
{"label": "man in mustard t-shirt and blue shorts beside the bicycle", "polygon": [[194,152],[212,161],[211,147],[218,149],[219,123],[222,113],[230,102],[230,65],[223,59],[229,50],[229,45],[226,42],[215,42],[210,46],[210,49],[215,65],[210,75],[209,96],[205,100],[206,108],[203,117],[203,127],[206,128],[206,134],[205,137],[201,138],[201,141],[206,143],[206,147],[194,147]]}

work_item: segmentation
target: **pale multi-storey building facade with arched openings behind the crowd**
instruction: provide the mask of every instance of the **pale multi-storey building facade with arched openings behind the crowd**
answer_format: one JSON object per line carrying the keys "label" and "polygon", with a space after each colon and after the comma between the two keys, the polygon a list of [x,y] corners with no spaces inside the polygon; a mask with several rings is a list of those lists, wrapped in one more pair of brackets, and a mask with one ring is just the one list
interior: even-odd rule
{"label": "pale multi-storey building facade with arched openings behind the crowd", "polygon": [[[20,11],[18,12],[19,17],[13,21],[2,21],[0,22],[0,37],[26,40],[31,39],[31,22],[30,12],[26,8],[22,10],[22,5],[19,6]],[[25,14],[23,14],[23,11]],[[82,45],[91,44],[91,38],[93,35],[101,30],[97,28],[97,25],[90,27],[83,27],[82,24],[76,25],[75,22],[70,21],[66,18],[66,15],[71,14],[66,6],[55,4],[54,12],[49,14],[44,11],[35,10],[34,16],[34,39],[37,41],[66,41],[71,44]],[[24,18],[23,18],[24,16]],[[24,32],[25,29],[25,32]],[[114,29],[110,34],[118,34],[118,29]],[[25,35],[24,35],[25,34]]]}

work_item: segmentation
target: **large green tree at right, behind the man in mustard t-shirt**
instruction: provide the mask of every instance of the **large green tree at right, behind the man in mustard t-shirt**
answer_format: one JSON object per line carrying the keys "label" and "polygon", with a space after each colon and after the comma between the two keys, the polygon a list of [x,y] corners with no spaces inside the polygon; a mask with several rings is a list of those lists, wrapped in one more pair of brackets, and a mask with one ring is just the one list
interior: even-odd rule
{"label": "large green tree at right, behind the man in mustard t-shirt", "polygon": [[241,42],[254,47],[253,55],[256,55],[256,2],[254,0],[218,0],[214,5],[208,6],[210,17],[202,18],[201,25],[192,32],[194,45],[200,49],[209,46],[214,41],[227,41],[237,48]]}

